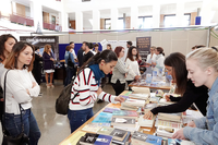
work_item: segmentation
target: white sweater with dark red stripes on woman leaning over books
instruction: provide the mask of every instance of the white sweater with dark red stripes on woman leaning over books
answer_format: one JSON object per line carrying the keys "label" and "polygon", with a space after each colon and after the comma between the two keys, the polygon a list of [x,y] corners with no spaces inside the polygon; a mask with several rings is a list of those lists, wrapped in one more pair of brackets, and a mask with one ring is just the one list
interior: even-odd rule
{"label": "white sweater with dark red stripes on woman leaning over books", "polygon": [[97,96],[98,87],[94,72],[89,68],[85,68],[74,80],[71,98],[73,98],[75,94],[78,94],[73,100],[70,100],[70,109],[84,110],[93,108],[97,98],[113,104],[117,102],[114,101],[116,96],[106,94],[105,92]]}

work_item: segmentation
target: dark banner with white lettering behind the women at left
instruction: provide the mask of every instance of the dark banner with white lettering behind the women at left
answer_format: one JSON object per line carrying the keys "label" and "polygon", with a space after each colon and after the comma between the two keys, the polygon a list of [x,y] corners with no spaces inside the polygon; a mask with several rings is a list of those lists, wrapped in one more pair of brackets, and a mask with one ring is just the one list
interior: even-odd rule
{"label": "dark banner with white lettering behind the women at left", "polygon": [[59,37],[58,36],[21,36],[21,41],[39,47],[39,53],[43,55],[45,45],[50,45],[55,59],[59,61]]}

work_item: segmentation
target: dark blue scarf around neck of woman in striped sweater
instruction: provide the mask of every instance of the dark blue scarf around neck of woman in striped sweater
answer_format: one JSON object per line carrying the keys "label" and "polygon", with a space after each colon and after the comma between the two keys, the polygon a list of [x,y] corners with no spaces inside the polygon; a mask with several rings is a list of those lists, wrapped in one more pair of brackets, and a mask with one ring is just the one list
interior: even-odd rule
{"label": "dark blue scarf around neck of woman in striped sweater", "polygon": [[94,72],[95,80],[98,83],[98,86],[100,85],[100,78],[105,77],[105,73],[100,71],[99,64],[93,64],[89,65],[90,70]]}

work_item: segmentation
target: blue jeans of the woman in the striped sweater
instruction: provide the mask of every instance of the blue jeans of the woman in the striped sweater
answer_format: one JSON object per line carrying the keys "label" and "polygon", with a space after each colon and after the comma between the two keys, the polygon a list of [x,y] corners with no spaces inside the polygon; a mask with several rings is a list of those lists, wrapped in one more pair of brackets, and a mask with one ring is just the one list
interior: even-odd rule
{"label": "blue jeans of the woman in the striped sweater", "polygon": [[68,111],[68,118],[70,120],[71,133],[78,129],[83,123],[93,117],[93,108],[85,110],[70,110]]}

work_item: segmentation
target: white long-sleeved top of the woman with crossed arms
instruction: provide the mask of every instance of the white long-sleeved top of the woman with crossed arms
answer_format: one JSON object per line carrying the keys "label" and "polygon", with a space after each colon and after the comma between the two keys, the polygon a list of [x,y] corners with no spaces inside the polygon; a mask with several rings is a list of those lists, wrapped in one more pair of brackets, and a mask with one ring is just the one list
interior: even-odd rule
{"label": "white long-sleeved top of the woman with crossed arms", "polygon": [[[4,75],[3,72],[1,76],[1,86],[3,88],[4,84]],[[7,74],[7,90],[5,90],[5,112],[20,114],[21,104],[24,110],[32,108],[32,99],[33,97],[38,97],[40,87],[36,83],[36,86],[33,87],[33,82],[36,83],[32,72],[25,70],[10,70]],[[33,87],[33,88],[32,88]],[[29,90],[27,94],[26,89]]]}

